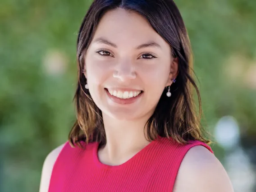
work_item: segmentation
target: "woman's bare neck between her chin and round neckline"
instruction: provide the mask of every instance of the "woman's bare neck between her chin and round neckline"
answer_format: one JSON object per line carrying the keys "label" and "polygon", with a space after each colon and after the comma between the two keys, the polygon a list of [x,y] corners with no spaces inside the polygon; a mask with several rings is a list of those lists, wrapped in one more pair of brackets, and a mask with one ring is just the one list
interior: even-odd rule
{"label": "woman's bare neck between her chin and round neckline", "polygon": [[106,145],[99,150],[101,162],[109,165],[121,164],[150,142],[144,127],[148,118],[128,120],[112,119],[102,114],[106,133]]}

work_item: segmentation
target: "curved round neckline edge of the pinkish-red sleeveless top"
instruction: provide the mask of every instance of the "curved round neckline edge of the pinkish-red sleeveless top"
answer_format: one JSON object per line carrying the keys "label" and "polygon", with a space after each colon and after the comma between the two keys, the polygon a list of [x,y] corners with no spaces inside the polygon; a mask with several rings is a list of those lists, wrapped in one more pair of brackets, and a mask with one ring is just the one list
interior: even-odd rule
{"label": "curved round neckline edge of the pinkish-red sleeveless top", "polygon": [[[158,137],[158,139],[159,139],[159,137]],[[106,164],[101,163],[101,161],[99,160],[99,156],[98,156],[100,143],[96,142],[96,145],[93,149],[93,160],[99,168],[120,169],[123,166],[127,166],[127,165],[133,163],[133,161],[136,160],[140,154],[142,154],[144,151],[148,150],[150,147],[154,146],[155,143],[157,143],[159,141],[158,139],[151,141],[149,144],[147,144],[145,147],[143,147],[140,151],[138,151],[135,155],[133,155],[130,159],[128,159],[127,161],[125,161],[124,163],[122,163],[120,165],[106,165]]]}

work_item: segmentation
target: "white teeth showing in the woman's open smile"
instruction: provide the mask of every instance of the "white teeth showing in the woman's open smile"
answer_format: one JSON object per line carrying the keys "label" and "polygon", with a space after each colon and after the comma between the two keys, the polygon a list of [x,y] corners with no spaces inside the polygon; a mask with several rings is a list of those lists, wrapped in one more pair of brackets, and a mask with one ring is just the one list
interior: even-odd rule
{"label": "white teeth showing in the woman's open smile", "polygon": [[135,98],[137,96],[140,96],[143,91],[125,91],[125,90],[114,90],[114,89],[107,89],[105,88],[106,91],[108,91],[110,93],[111,96],[114,96],[116,98],[119,99],[123,99],[123,100],[127,100],[127,99],[131,99],[131,98]]}

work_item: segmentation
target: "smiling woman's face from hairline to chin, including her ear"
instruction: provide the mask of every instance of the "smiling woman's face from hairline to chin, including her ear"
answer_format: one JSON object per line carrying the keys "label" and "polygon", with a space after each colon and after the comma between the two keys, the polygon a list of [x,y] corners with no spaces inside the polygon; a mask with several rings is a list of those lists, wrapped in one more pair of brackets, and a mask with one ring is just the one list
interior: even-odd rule
{"label": "smiling woman's face from hairline to chin, including her ear", "polygon": [[103,115],[119,120],[148,119],[177,66],[147,20],[124,9],[101,18],[85,55],[92,99]]}

